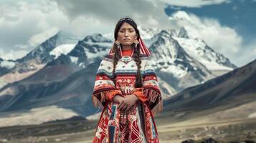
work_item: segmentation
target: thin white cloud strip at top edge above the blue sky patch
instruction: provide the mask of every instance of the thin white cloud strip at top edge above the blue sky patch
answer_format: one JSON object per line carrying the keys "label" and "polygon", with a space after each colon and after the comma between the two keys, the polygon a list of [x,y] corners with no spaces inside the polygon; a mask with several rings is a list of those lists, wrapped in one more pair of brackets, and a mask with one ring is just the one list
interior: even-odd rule
{"label": "thin white cloud strip at top edge above the blue sky patch", "polygon": [[172,6],[202,7],[212,4],[229,3],[230,0],[160,0]]}

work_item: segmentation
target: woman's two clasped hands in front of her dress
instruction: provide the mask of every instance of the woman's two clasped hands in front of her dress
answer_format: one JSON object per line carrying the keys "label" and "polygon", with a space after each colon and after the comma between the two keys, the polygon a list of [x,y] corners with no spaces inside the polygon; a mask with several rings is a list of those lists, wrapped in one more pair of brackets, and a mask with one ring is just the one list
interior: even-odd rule
{"label": "woman's two clasped hands in front of her dress", "polygon": [[120,94],[116,94],[115,97],[113,97],[113,102],[119,103],[118,109],[125,112],[128,112],[129,109],[133,107],[133,104],[135,104],[137,101],[138,97],[135,94],[131,94],[125,97],[122,97]]}

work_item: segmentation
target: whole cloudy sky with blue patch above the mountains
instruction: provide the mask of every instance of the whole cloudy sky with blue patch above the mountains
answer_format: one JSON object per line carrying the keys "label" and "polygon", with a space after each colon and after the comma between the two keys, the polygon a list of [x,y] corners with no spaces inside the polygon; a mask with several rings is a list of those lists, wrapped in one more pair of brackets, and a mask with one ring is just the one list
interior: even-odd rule
{"label": "whole cloudy sky with blue patch above the mountains", "polygon": [[185,26],[242,66],[256,57],[255,6],[256,0],[0,0],[0,57],[22,57],[60,30],[113,33],[118,19],[130,16],[141,26]]}

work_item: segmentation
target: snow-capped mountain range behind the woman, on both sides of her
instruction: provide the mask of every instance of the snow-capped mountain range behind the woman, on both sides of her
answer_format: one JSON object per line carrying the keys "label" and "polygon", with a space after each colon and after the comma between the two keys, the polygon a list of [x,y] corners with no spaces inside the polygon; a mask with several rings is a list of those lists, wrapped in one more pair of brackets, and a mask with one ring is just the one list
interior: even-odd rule
{"label": "snow-capped mountain range behind the woman, on both sides of her", "polygon": [[[234,69],[228,59],[214,52],[204,41],[189,39],[185,28],[176,31],[141,27],[140,33],[153,53],[151,59],[156,62],[163,98],[217,77],[214,69]],[[57,106],[71,109],[82,117],[93,114],[96,109],[92,108],[91,94],[95,72],[112,45],[113,40],[102,34],[85,36],[82,40],[61,33],[52,36],[16,61],[19,67],[28,63],[32,65],[29,67],[41,66],[36,67],[37,70],[24,68],[27,71],[21,73],[29,74],[19,74],[22,78],[16,78],[0,88],[0,111],[10,115],[24,109],[26,114],[31,109]],[[14,69],[19,69],[17,67]],[[0,118],[5,116],[2,114]]]}

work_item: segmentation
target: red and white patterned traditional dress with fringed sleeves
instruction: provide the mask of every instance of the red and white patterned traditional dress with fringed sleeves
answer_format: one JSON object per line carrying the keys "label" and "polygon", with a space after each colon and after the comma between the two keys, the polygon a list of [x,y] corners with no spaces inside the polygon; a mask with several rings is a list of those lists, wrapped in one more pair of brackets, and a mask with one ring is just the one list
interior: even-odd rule
{"label": "red and white patterned traditional dress with fringed sleeves", "polygon": [[[153,62],[148,56],[141,56],[143,86],[136,88],[137,65],[132,58],[133,49],[121,52],[122,58],[114,74],[110,55],[103,58],[96,74],[93,102],[96,107],[103,107],[103,112],[93,142],[159,142],[153,114],[163,108],[163,102]],[[118,103],[113,102],[115,94],[123,97],[135,94],[139,100],[124,113],[118,110]]]}

